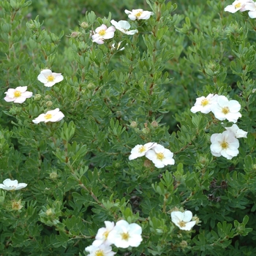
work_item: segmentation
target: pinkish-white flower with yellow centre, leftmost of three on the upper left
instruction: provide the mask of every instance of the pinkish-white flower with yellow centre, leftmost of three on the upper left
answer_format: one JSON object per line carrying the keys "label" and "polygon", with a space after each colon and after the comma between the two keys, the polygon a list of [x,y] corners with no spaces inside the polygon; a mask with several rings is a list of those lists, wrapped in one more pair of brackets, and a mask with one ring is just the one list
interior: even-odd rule
{"label": "pinkish-white flower with yellow centre, leftmost of three on the upper left", "polygon": [[7,102],[23,103],[27,98],[32,97],[33,93],[31,91],[26,91],[27,86],[18,86],[16,89],[8,89],[4,94],[4,100]]}

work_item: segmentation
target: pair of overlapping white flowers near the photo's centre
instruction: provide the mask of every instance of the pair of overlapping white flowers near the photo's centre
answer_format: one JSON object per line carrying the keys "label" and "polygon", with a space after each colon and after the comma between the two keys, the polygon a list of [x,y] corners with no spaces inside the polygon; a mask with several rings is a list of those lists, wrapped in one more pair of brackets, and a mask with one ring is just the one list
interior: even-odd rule
{"label": "pair of overlapping white flowers near the photo's centre", "polygon": [[175,163],[173,152],[154,142],[137,145],[132,148],[129,160],[143,156],[151,160],[157,168],[165,167],[165,165],[174,165]]}

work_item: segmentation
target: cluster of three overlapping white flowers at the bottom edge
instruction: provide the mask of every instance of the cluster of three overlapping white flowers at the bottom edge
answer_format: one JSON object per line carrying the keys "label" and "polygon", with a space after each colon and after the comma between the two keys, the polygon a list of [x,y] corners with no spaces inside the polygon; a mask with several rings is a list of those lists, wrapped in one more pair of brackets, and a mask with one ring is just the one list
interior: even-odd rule
{"label": "cluster of three overlapping white flowers at the bottom edge", "polygon": [[105,227],[99,228],[95,240],[91,246],[86,247],[88,256],[104,255],[113,256],[110,245],[114,244],[118,248],[138,247],[142,241],[142,229],[136,223],[129,224],[124,219],[116,222],[105,221]]}

